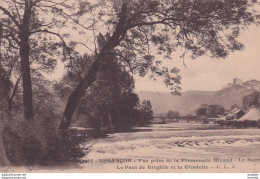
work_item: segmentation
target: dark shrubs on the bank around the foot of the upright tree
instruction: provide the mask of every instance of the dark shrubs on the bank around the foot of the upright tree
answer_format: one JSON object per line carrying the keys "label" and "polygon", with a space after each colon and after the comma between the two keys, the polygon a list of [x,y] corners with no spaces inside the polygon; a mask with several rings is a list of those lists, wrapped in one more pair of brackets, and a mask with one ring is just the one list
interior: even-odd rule
{"label": "dark shrubs on the bank around the foot of the upright tree", "polygon": [[78,161],[83,155],[80,143],[86,134],[58,130],[61,117],[49,104],[35,108],[32,121],[23,113],[2,115],[3,140],[10,162],[14,165],[59,165]]}

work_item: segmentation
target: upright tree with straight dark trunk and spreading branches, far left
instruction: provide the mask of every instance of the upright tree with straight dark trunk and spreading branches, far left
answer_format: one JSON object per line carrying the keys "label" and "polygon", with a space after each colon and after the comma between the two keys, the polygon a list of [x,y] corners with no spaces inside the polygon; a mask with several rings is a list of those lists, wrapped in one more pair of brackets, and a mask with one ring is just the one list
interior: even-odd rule
{"label": "upright tree with straight dark trunk and spreading branches, far left", "polygon": [[[24,116],[27,120],[33,118],[32,74],[37,76],[42,72],[52,72],[58,59],[73,57],[73,43],[66,43],[69,34],[62,29],[67,24],[70,28],[77,25],[80,12],[74,1],[1,1],[1,62],[10,71],[10,78],[11,71],[16,72],[12,75],[17,76],[17,83],[20,76],[22,78]],[[87,27],[81,24],[81,28]]]}

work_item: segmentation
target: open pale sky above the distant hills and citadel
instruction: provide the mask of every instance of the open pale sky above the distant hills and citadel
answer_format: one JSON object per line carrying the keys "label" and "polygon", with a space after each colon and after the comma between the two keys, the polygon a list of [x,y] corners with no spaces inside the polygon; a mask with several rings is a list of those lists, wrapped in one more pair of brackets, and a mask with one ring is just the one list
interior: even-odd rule
{"label": "open pale sky above the distant hills and citadel", "polygon": [[[175,60],[166,62],[169,66],[178,67],[182,77],[182,91],[200,90],[217,91],[239,78],[243,81],[256,79],[260,81],[260,27],[251,26],[248,30],[242,31],[239,37],[240,42],[245,45],[242,51],[231,53],[225,59],[213,59],[202,56],[192,60],[185,56],[183,59],[174,56]],[[149,80],[135,76],[136,90],[170,92],[162,80]]]}

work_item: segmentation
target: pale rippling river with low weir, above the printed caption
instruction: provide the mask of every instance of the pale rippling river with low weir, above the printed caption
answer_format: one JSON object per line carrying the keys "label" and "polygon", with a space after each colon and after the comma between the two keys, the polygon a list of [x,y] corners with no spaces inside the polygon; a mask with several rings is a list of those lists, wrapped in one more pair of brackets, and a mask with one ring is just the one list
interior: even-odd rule
{"label": "pale rippling river with low weir, above the printed caption", "polygon": [[117,171],[118,163],[127,162],[127,159],[138,163],[169,158],[187,161],[218,158],[219,162],[260,158],[260,129],[222,129],[213,123],[180,121],[153,123],[135,127],[133,131],[109,134],[84,143],[86,156],[81,168]]}

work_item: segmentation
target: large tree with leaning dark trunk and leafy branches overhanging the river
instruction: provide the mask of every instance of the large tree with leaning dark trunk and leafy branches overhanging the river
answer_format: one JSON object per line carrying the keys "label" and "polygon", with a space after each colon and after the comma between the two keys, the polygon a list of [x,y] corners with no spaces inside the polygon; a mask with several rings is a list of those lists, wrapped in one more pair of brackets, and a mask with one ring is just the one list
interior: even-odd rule
{"label": "large tree with leaning dark trunk and leafy branches overhanging the river", "polygon": [[93,30],[93,44],[99,39],[104,43],[92,50],[95,61],[70,95],[60,128],[69,127],[81,97],[111,54],[116,54],[133,73],[163,77],[166,86],[179,94],[179,70],[164,67],[155,57],[171,58],[172,52],[179,48],[185,49],[183,56],[188,53],[192,58],[201,55],[225,58],[230,52],[241,50],[243,45],[236,39],[241,29],[258,22],[256,3],[254,0],[96,1],[97,8],[89,16],[94,17],[95,27],[103,28]]}

